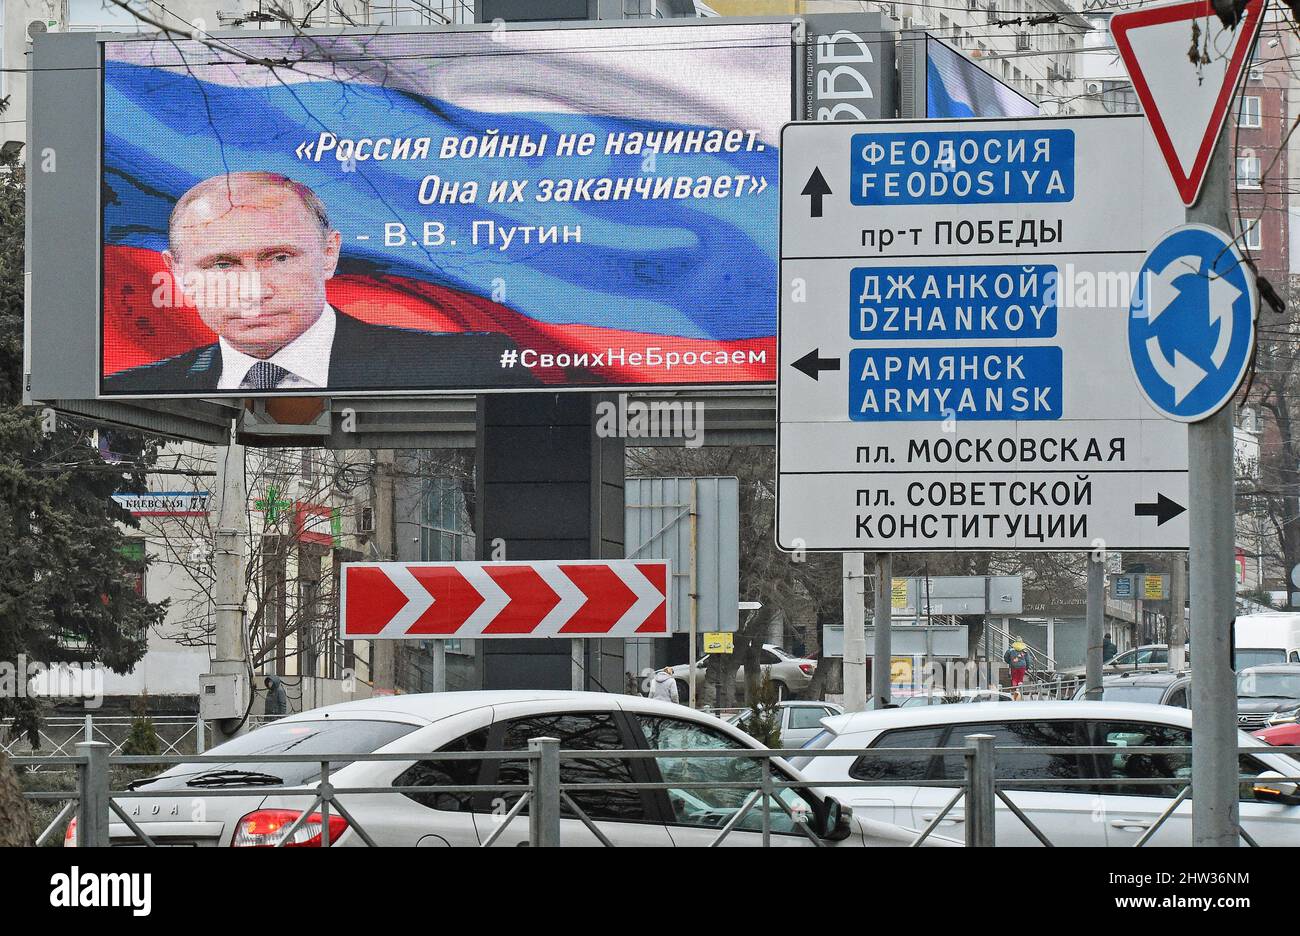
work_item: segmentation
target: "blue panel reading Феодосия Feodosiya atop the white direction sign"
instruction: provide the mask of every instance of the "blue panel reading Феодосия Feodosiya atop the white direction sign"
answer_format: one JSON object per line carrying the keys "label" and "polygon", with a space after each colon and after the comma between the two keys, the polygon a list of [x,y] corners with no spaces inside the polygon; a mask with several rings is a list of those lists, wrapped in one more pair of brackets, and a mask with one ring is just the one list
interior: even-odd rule
{"label": "blue panel reading \u0424\u0435\u043e\u0434\u043e\u0441\u0438\u044f Feodosiya atop the white direction sign", "polygon": [[1074,200],[1074,130],[854,134],[855,205]]}

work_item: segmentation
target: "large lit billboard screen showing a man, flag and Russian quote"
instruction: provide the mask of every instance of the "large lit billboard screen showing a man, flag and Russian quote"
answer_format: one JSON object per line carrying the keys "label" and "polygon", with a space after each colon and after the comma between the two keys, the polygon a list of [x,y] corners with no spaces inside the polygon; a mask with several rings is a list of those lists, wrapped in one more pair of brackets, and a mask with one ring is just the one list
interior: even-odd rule
{"label": "large lit billboard screen showing a man, flag and Russian quote", "polygon": [[789,23],[103,56],[101,396],[775,380]]}

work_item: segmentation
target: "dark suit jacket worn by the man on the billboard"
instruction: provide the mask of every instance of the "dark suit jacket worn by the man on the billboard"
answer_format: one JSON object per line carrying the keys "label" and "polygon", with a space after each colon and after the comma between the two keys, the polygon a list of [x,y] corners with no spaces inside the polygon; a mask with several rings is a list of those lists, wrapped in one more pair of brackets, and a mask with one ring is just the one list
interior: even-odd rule
{"label": "dark suit jacket worn by the man on the billboard", "polygon": [[[500,365],[507,350],[517,348],[504,335],[370,325],[335,309],[325,391],[538,386],[540,381],[517,361],[512,368]],[[103,387],[105,394],[190,394],[217,391],[220,380],[221,346],[213,343],[112,374],[104,378]]]}

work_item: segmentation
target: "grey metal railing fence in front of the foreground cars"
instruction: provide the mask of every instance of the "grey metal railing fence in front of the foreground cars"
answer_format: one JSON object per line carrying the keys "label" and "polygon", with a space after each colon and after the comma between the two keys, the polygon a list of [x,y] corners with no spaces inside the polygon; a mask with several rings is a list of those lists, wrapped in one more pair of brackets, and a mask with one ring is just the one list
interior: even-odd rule
{"label": "grey metal railing fence in front of the foreground cars", "polygon": [[[38,837],[38,844],[44,844],[53,835],[61,831],[66,820],[75,810],[77,815],[77,845],[83,848],[96,848],[110,844],[110,824],[116,815],[130,831],[130,835],[147,846],[157,845],[151,836],[127,815],[121,801],[133,798],[147,798],[157,796],[173,796],[174,793],[160,793],[147,789],[110,790],[110,766],[134,767],[170,767],[187,763],[213,763],[225,766],[238,766],[242,763],[276,764],[276,763],[312,763],[320,767],[320,780],[316,785],[298,786],[238,786],[238,788],[202,788],[195,789],[196,798],[208,797],[247,797],[250,793],[274,796],[303,796],[311,797],[311,806],[299,811],[296,820],[282,833],[280,842],[290,841],[292,836],[308,822],[315,822],[318,816],[322,848],[330,846],[330,812],[338,812],[350,829],[368,846],[377,842],[370,837],[364,826],[341,802],[341,797],[358,794],[434,794],[434,793],[517,793],[519,800],[511,809],[498,816],[497,828],[481,845],[493,845],[506,828],[514,823],[528,807],[528,840],[530,845],[555,846],[560,844],[562,815],[567,810],[571,818],[577,819],[589,829],[602,845],[611,845],[608,837],[599,827],[599,820],[593,820],[575,801],[572,793],[582,790],[745,790],[746,796],[740,802],[736,811],[728,818],[725,824],[718,829],[716,838],[711,846],[722,844],[740,824],[755,810],[760,815],[762,845],[771,845],[774,810],[780,810],[786,815],[793,829],[807,836],[814,845],[824,845],[823,836],[809,827],[811,815],[806,810],[792,809],[780,796],[781,790],[814,790],[818,793],[836,793],[842,789],[854,788],[883,788],[883,786],[932,786],[954,789],[953,797],[937,812],[923,829],[910,829],[915,832],[915,838],[910,845],[916,846],[926,842],[935,835],[935,829],[945,816],[965,800],[965,844],[974,848],[987,848],[996,845],[996,811],[1001,802],[1008,810],[1023,823],[1028,831],[1044,845],[1053,842],[1039,829],[1028,815],[1011,800],[1009,793],[1024,792],[1037,788],[1079,786],[1105,788],[1114,786],[1178,786],[1176,796],[1169,798],[1169,803],[1158,819],[1148,827],[1135,846],[1143,846],[1150,841],[1152,836],[1164,826],[1174,811],[1191,797],[1191,777],[1043,777],[1030,779],[998,779],[997,763],[1002,754],[1035,754],[1035,755],[1187,755],[1191,758],[1190,746],[1173,745],[1132,745],[1132,746],[1023,746],[1002,745],[994,746],[991,734],[968,734],[961,748],[867,748],[867,749],[822,749],[822,750],[768,750],[768,749],[679,749],[679,750],[560,750],[556,738],[538,737],[528,742],[528,750],[508,751],[437,751],[437,753],[394,753],[394,754],[248,754],[248,755],[222,755],[220,758],[199,758],[195,755],[114,755],[110,746],[101,741],[77,742],[74,755],[32,757],[20,755],[10,758],[10,763],[20,770],[57,770],[72,768],[77,772],[75,790],[46,790],[26,792],[25,796],[34,801],[65,801],[58,815],[51,822]],[[1300,746],[1295,748],[1239,748],[1238,754],[1268,755],[1288,754],[1300,755]],[[954,779],[913,780],[913,779],[854,779],[854,780],[789,780],[784,771],[772,770],[775,758],[879,758],[898,755],[946,755],[962,757],[962,777]],[[577,760],[623,760],[623,759],[750,759],[758,762],[759,775],[755,780],[698,780],[673,783],[564,783],[562,780],[562,764],[567,759]],[[333,772],[346,763],[355,762],[403,762],[415,764],[417,762],[451,762],[451,760],[524,760],[528,764],[528,781],[523,784],[448,784],[448,785],[385,785],[385,786],[334,786]],[[1296,771],[1300,774],[1300,770]],[[1253,776],[1242,776],[1242,783],[1252,783]],[[1300,783],[1300,776],[1271,777],[1274,783]],[[296,807],[295,807],[296,809]],[[1256,842],[1247,829],[1242,829],[1242,838],[1248,845]]]}

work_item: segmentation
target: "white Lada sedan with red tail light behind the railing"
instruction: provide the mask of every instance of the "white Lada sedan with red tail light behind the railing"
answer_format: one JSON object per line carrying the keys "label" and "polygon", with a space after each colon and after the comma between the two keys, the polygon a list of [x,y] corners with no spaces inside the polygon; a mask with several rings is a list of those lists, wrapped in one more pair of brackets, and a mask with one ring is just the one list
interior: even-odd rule
{"label": "white Lada sedan with red tail light behind the railing", "polygon": [[[705,712],[632,696],[578,692],[451,692],[391,696],[325,706],[280,719],[207,751],[199,763],[178,764],[136,781],[142,798],[120,798],[133,822],[160,845],[266,846],[278,844],[318,784],[315,763],[231,763],[231,755],[410,754],[410,759],[334,764],[330,783],[347,786],[498,785],[526,783],[528,763],[500,759],[421,760],[436,751],[519,750],[529,738],[550,736],[562,750],[590,750],[585,760],[564,759],[560,783],[759,783],[760,767],[750,758],[602,758],[602,750],[627,749],[757,749],[759,744]],[[783,781],[801,775],[781,759],[772,764]],[[238,796],[204,797],[205,790]],[[568,794],[615,845],[705,845],[750,796],[748,788],[682,786],[666,790],[571,788]],[[500,824],[519,792],[381,792],[339,793],[347,815],[332,811],[330,842],[364,845],[361,829],[382,845],[480,845]],[[905,829],[840,810],[832,796],[781,790],[780,800],[809,818],[820,841],[845,845],[905,845]],[[560,837],[566,845],[599,840],[568,807],[562,807]],[[318,845],[318,812],[291,845]],[[774,803],[774,845],[812,845],[794,820]],[[113,816],[114,845],[139,845],[129,827]],[[75,842],[75,832],[70,836]],[[524,845],[525,816],[510,823],[494,844]],[[724,845],[762,842],[762,810],[754,809]],[[952,840],[937,842],[950,845]]]}

